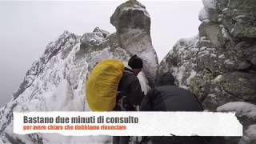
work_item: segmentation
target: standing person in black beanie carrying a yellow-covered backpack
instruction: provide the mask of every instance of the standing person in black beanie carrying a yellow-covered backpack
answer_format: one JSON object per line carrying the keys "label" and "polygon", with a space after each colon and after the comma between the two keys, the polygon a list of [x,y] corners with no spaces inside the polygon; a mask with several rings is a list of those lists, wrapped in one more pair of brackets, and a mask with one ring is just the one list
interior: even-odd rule
{"label": "standing person in black beanie carrying a yellow-covered backpack", "polygon": [[[136,111],[144,94],[138,80],[143,62],[137,55],[127,62],[103,59],[86,82],[86,100],[93,111]],[[114,144],[128,144],[130,137],[114,137]]]}

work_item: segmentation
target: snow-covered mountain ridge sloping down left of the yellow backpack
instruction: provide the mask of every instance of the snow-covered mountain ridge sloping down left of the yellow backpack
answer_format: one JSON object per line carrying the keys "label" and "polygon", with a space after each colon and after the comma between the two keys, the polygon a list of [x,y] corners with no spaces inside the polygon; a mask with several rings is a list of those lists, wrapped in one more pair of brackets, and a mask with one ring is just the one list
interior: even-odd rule
{"label": "snow-covered mountain ridge sloping down left of the yellow backpack", "polygon": [[[47,139],[48,136],[45,138],[45,135],[49,134],[28,134],[28,136],[14,134],[14,139],[18,139],[15,141],[9,138],[6,135],[13,135],[12,111],[90,110],[89,106],[85,106],[84,103],[84,84],[91,66],[94,66],[96,62],[103,58],[127,61],[130,55],[122,48],[110,51],[110,47],[86,53],[82,49],[82,38],[88,38],[88,35],[89,37],[90,35],[96,35],[96,37],[90,38],[90,42],[98,42],[97,46],[106,42],[106,38],[103,38],[103,34],[99,32],[88,33],[83,37],[64,32],[58,40],[50,42],[42,57],[33,63],[14,97],[6,106],[1,108],[0,123],[1,130],[4,132],[2,134],[3,142],[21,141],[30,143],[30,135],[42,138],[42,142],[58,140]],[[66,139],[64,136],[58,136],[58,138],[60,137],[63,138],[63,141]],[[108,138],[104,140],[104,138],[81,138],[81,141],[100,143],[109,140]],[[38,139],[34,141],[38,142]],[[76,138],[74,138],[74,142],[78,142]]]}

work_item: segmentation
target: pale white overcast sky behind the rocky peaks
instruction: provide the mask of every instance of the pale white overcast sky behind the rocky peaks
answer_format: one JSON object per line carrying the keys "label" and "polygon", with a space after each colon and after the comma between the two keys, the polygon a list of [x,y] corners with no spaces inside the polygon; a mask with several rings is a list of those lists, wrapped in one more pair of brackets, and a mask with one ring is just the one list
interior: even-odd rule
{"label": "pale white overcast sky behind the rocky peaks", "polygon": [[[8,102],[50,41],[64,30],[82,35],[94,27],[113,33],[110,16],[126,1],[0,2],[0,106]],[[151,17],[159,62],[180,38],[198,34],[202,2],[142,1]]]}

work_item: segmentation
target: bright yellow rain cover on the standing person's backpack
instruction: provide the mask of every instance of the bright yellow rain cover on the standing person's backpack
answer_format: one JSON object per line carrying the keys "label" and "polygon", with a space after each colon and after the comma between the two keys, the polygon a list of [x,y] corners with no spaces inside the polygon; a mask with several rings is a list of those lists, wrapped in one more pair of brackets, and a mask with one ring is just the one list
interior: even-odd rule
{"label": "bright yellow rain cover on the standing person's backpack", "polygon": [[123,63],[115,59],[104,59],[94,66],[86,82],[86,99],[90,110],[114,109],[123,70]]}

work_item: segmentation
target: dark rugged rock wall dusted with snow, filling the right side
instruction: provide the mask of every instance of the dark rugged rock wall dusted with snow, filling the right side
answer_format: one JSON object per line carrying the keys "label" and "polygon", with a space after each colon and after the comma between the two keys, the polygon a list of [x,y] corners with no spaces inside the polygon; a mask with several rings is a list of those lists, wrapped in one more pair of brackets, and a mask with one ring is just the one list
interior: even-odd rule
{"label": "dark rugged rock wall dusted with snow, filling the right side", "polygon": [[[215,111],[227,102],[256,104],[256,2],[202,2],[198,36],[179,40],[160,63],[158,74],[172,72],[177,84],[191,90],[206,110]],[[251,121],[245,126],[245,134],[254,125]],[[247,138],[225,138],[223,142],[255,142]]]}

